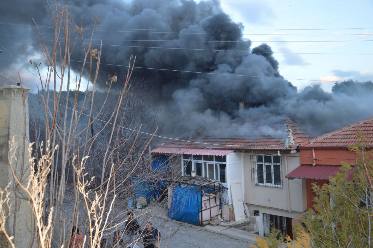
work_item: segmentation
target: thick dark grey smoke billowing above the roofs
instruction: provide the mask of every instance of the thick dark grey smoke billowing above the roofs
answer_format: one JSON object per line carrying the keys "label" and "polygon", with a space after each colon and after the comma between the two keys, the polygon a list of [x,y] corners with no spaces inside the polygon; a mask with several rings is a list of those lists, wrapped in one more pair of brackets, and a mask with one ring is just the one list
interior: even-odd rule
{"label": "thick dark grey smoke billowing above the roofs", "polygon": [[[63,4],[72,10],[76,24],[83,18],[86,28],[92,27],[94,16],[100,17],[101,28],[95,32],[94,39],[98,40],[94,43],[110,39],[103,40],[103,44],[137,46],[103,46],[101,63],[126,65],[129,56],[136,54],[138,67],[201,72],[135,70],[135,77],[146,79],[156,89],[149,99],[162,106],[167,135],[282,136],[278,130],[282,129],[284,118],[289,117],[303,124],[312,136],[373,115],[369,107],[373,100],[364,94],[332,95],[319,85],[298,92],[280,75],[270,46],[262,44],[251,49],[250,40],[242,38],[244,27],[223,12],[219,1],[71,0],[62,1]],[[45,1],[5,1],[1,5],[1,22],[32,24],[34,18],[40,26],[51,26]],[[54,36],[53,29],[41,30],[44,37]],[[0,34],[37,36],[33,27],[4,24],[0,24]],[[89,34],[88,30],[84,32],[87,37]],[[18,56],[25,58],[25,54],[40,51],[38,39],[13,36],[1,36],[0,43]],[[76,53],[73,59],[81,60],[81,55]],[[19,67],[9,62],[11,59],[0,59],[1,71]],[[108,74],[126,71],[125,67],[100,68],[103,90]],[[239,110],[241,101],[245,102],[245,109]]]}

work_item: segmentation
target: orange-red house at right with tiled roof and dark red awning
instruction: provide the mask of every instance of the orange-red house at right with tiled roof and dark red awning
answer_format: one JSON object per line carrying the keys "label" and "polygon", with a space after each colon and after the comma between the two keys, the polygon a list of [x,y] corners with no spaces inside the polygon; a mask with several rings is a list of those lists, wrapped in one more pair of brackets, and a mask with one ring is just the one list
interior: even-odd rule
{"label": "orange-red house at right with tiled roof and dark red awning", "polygon": [[[342,162],[355,164],[356,153],[348,150],[348,146],[360,142],[356,137],[358,130],[370,139],[370,147],[372,147],[373,117],[307,140],[298,148],[300,166],[286,177],[290,180],[302,180],[302,185],[306,187],[307,209],[313,207],[313,198],[316,196],[312,191],[313,183],[319,186],[328,184],[329,178],[339,171]],[[352,177],[349,175],[348,179],[352,180]]]}

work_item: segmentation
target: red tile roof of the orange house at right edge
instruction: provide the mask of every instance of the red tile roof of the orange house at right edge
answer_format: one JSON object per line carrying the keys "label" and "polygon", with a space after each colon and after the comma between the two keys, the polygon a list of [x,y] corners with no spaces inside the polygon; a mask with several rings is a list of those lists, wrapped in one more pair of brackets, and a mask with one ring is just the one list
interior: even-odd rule
{"label": "red tile roof of the orange house at right edge", "polygon": [[361,130],[370,139],[373,146],[373,117],[341,127],[338,130],[323,134],[314,139],[302,143],[304,147],[348,147],[360,140],[356,137],[357,130]]}

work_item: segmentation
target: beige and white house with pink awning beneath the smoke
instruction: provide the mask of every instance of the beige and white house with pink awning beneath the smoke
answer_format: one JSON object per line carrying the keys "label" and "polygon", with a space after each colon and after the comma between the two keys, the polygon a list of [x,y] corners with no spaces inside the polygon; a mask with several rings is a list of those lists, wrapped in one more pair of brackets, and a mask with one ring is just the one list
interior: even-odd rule
{"label": "beige and white house with pink awning beneath the smoke", "polygon": [[[294,220],[307,209],[305,182],[285,176],[300,165],[298,146],[307,139],[300,128],[285,121],[286,137],[257,139],[199,139],[203,142],[175,142],[152,150],[159,154],[180,154],[182,175],[219,181],[222,217],[240,220],[256,216],[260,235],[270,232],[270,223],[292,236]],[[247,215],[246,215],[247,213]]]}

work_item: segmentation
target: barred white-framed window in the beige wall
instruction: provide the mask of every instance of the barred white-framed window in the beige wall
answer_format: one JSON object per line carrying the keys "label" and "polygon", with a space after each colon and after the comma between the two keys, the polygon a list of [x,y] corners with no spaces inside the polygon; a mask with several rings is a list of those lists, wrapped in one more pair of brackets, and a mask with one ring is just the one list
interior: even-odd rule
{"label": "barred white-framed window in the beige wall", "polygon": [[253,185],[282,188],[280,156],[251,155],[251,182]]}

